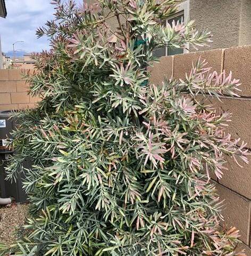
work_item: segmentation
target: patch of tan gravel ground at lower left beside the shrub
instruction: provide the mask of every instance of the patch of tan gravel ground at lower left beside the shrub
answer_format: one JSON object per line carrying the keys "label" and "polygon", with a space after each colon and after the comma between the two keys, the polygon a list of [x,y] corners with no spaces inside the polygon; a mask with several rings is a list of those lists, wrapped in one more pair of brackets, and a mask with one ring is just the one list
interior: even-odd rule
{"label": "patch of tan gravel ground at lower left beside the shrub", "polygon": [[15,241],[15,228],[24,223],[28,209],[28,204],[0,207],[0,243],[11,244]]}

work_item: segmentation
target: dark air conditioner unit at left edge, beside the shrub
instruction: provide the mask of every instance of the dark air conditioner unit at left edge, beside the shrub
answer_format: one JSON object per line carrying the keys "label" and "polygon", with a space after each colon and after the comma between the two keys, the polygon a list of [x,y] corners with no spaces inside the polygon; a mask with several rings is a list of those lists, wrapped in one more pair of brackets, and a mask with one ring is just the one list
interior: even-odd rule
{"label": "dark air conditioner unit at left edge, beside the shrub", "polygon": [[[11,139],[11,132],[14,129],[14,121],[11,111],[0,112],[0,197],[13,197],[16,203],[25,203],[28,201],[27,195],[22,188],[24,173],[18,174],[16,182],[6,181],[5,167],[10,155],[15,154],[12,147],[6,145],[6,139]],[[23,166],[29,168],[31,163],[24,162]]]}

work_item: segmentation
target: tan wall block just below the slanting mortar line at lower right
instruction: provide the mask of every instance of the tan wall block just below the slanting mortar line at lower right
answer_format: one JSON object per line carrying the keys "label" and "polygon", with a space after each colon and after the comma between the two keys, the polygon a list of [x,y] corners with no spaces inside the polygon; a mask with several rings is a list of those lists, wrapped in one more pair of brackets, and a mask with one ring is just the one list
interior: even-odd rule
{"label": "tan wall block just below the slanting mortar line at lower right", "polygon": [[216,189],[220,199],[224,200],[222,214],[225,222],[222,225],[227,228],[236,227],[239,229],[240,240],[248,244],[250,235],[250,201],[219,184],[216,184]]}

